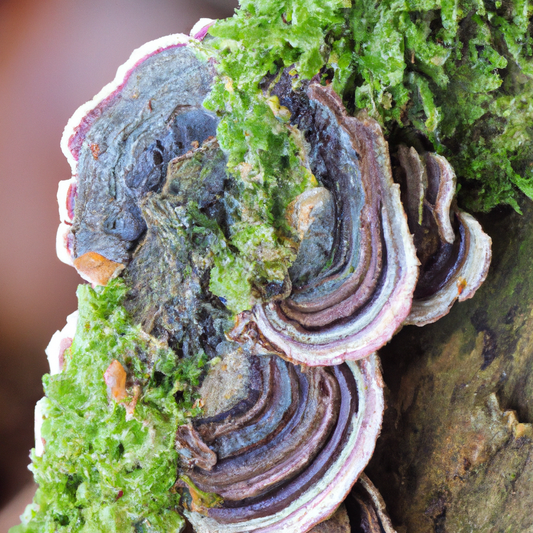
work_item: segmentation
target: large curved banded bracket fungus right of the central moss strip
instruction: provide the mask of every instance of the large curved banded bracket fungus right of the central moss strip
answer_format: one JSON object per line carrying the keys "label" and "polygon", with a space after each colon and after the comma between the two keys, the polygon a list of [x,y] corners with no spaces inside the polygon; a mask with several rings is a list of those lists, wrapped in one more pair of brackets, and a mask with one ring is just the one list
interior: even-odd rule
{"label": "large curved banded bracket fungus right of the central moss strip", "polygon": [[250,318],[290,361],[361,359],[409,315],[418,277],[388,145],[378,123],[348,116],[330,87],[311,83],[295,93],[284,74],[273,92],[305,135],[310,168],[333,197],[333,244],[317,275],[292,279],[289,298],[256,306]]}

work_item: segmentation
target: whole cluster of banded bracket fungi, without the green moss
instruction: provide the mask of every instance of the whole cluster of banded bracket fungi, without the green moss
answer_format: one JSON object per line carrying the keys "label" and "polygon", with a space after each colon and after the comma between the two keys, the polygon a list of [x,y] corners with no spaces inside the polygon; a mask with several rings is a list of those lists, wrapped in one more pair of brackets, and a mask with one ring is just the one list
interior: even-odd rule
{"label": "whole cluster of banded bracket fungi, without the green moss", "polygon": [[[334,514],[373,453],[384,409],[376,350],[471,297],[490,239],[455,206],[443,157],[400,146],[393,178],[376,121],[283,73],[266,97],[289,110],[319,186],[287,209],[300,237],[290,295],[233,317],[209,274],[239,216],[238,178],[202,107],[215,69],[197,42],[148,43],[69,122],[58,254],[95,285],[122,276],[146,334],[210,359],[204,414],[176,435],[176,490],[195,530],[304,533]],[[392,532],[361,479],[347,504],[361,530]]]}

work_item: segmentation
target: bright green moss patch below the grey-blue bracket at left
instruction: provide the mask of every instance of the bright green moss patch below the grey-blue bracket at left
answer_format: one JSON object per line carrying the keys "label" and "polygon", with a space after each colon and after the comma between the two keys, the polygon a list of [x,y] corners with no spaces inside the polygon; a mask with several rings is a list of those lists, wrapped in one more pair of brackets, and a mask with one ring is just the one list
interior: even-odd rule
{"label": "bright green moss patch below the grey-blue bracket at left", "polygon": [[[79,321],[66,369],[43,379],[45,453],[32,452],[39,489],[13,533],[178,532],[172,490],[179,424],[196,416],[193,385],[204,357],[179,360],[141,333],[121,305],[120,281],[80,286]],[[118,360],[141,387],[133,419],[108,398],[104,372]],[[179,400],[176,400],[179,398]]]}

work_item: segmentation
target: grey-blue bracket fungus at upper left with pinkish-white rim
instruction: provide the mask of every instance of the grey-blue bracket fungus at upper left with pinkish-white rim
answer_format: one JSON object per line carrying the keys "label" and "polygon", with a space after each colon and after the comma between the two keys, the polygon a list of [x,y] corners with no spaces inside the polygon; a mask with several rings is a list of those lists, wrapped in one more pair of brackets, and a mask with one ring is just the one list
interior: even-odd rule
{"label": "grey-blue bracket fungus at upper left with pinkish-white rim", "polygon": [[[203,19],[193,35],[203,38],[210,24]],[[65,128],[72,178],[58,188],[57,255],[93,284],[128,264],[146,231],[140,202],[160,191],[170,160],[216,134],[218,119],[202,107],[215,72],[193,42],[176,34],[135,50]]]}

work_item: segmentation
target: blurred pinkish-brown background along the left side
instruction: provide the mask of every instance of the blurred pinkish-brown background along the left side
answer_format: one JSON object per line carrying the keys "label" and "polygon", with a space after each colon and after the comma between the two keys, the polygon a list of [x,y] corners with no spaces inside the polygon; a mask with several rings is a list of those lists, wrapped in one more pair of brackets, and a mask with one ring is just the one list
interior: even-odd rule
{"label": "blurred pinkish-brown background along the left side", "polygon": [[0,532],[34,487],[44,349],[81,279],[55,255],[59,148],[69,117],[143,43],[231,16],[237,0],[0,0]]}

